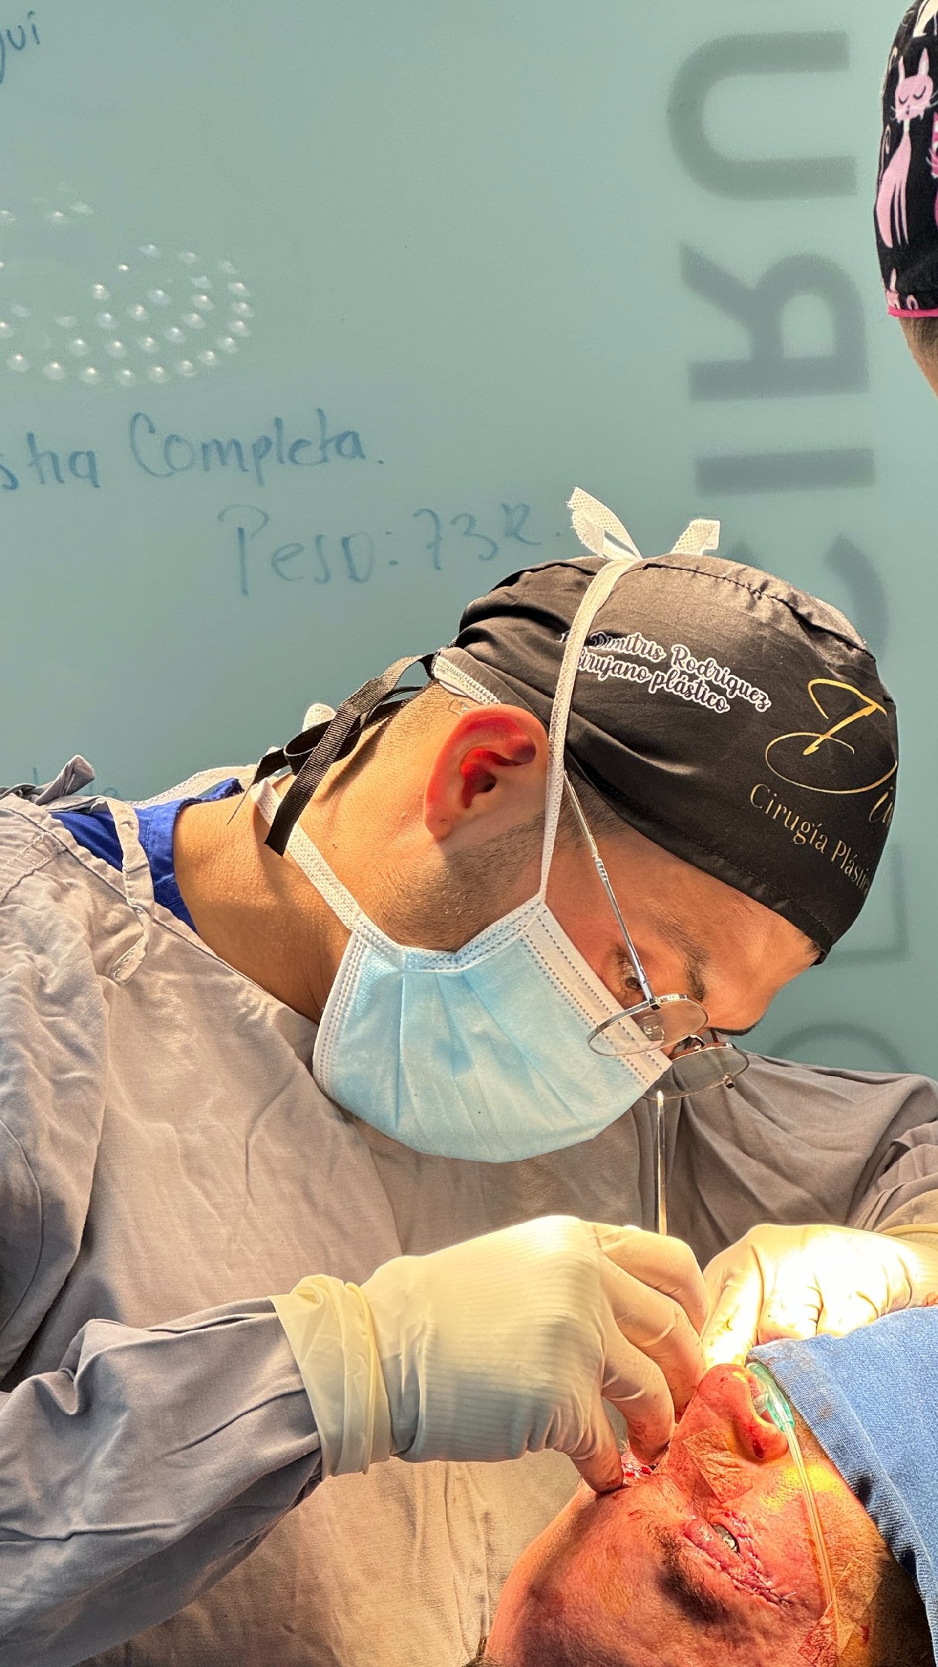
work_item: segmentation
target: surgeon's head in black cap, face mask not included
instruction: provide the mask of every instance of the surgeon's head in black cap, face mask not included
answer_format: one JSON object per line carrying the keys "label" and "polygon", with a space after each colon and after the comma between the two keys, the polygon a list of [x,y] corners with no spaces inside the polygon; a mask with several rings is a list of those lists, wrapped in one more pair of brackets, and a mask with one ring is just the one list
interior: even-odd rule
{"label": "surgeon's head in black cap, face mask not included", "polygon": [[[548,732],[573,620],[605,563],[553,562],[473,602],[435,685],[327,778],[305,827],[397,944],[462,949],[536,894]],[[668,555],[591,620],[566,765],[656,994],[756,1024],[870,890],[896,728],[835,608],[755,568]],[[638,984],[565,813],[548,902],[608,990]]]}

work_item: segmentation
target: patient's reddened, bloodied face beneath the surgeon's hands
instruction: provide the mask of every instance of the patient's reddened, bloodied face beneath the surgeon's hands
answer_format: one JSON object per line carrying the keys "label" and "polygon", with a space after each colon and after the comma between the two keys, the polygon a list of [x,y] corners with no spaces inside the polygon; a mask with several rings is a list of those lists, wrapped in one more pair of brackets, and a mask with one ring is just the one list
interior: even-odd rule
{"label": "patient's reddened, bloodied face beneath the surgeon's hands", "polygon": [[583,1489],[516,1564],[498,1667],[930,1667],[925,1609],[805,1425],[840,1655],[798,1474],[741,1367],[715,1367],[670,1454],[620,1494]]}

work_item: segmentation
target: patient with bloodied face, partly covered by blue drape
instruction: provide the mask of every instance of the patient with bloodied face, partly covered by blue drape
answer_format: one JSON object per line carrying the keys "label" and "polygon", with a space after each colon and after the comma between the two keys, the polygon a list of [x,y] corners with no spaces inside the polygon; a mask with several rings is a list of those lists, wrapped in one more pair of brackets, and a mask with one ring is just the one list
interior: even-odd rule
{"label": "patient with bloodied face, partly covered by blue drape", "polygon": [[[715,1367],[656,1472],[628,1465],[623,1490],[600,1500],[583,1489],[535,1540],[478,1659],[933,1667],[938,1315],[773,1344],[753,1360],[768,1397],[748,1367]],[[816,1527],[770,1410],[780,1389]]]}

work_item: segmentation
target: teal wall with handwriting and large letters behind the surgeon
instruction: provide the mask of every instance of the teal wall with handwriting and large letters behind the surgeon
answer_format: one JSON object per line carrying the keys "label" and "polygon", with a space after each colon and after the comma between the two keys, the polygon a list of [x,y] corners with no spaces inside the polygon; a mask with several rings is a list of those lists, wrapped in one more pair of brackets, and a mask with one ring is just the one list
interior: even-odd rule
{"label": "teal wall with handwriting and large letters behind the surgeon", "polygon": [[938,1074],[938,408],[871,233],[898,12],[7,8],[0,778],[258,755],[573,553],[576,483],[648,553],[720,515],[903,720],[866,915],[761,1045]]}

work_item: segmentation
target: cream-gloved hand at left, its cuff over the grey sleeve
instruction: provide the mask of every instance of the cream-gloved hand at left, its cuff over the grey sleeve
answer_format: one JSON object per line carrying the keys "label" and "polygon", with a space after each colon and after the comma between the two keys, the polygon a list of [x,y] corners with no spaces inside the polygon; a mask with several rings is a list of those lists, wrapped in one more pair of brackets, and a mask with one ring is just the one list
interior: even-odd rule
{"label": "cream-gloved hand at left, its cuff over the grey sleeve", "polygon": [[703,1279],[686,1245],[548,1217],[358,1289],[315,1277],[275,1309],[303,1374],[323,1475],[392,1454],[503,1460],[553,1447],[621,1485],[603,1395],[655,1459],[703,1375]]}

